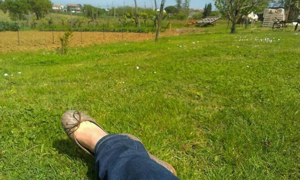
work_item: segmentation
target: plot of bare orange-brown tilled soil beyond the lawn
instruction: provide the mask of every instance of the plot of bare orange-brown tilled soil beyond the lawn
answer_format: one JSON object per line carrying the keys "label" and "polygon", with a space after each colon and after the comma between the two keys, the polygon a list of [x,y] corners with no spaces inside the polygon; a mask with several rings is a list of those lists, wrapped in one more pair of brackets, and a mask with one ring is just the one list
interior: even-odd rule
{"label": "plot of bare orange-brown tilled soil beyond the lawn", "polygon": [[[180,33],[197,32],[200,29],[174,29],[169,32],[161,33],[161,36],[174,36]],[[32,51],[38,49],[56,49],[60,46],[59,37],[63,36],[64,32],[40,31],[20,31],[20,45],[18,45],[17,32],[0,32],[0,53]],[[154,39],[154,33],[104,33],[103,32],[82,32],[82,42],[80,32],[73,32],[73,37],[70,40],[70,46],[87,46],[93,43],[101,44],[117,41],[143,41]]]}

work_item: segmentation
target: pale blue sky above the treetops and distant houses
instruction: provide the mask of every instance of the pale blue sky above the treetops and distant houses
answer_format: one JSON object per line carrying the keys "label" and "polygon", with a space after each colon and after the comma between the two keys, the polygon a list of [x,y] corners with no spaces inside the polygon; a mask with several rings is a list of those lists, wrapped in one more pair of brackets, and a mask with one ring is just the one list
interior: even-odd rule
{"label": "pale blue sky above the treetops and distant houses", "polygon": [[[92,4],[94,6],[99,6],[101,8],[106,8],[107,6],[111,7],[112,3],[113,6],[123,6],[124,0],[51,0],[53,3],[59,3],[66,5],[68,3],[74,3],[74,4]],[[160,3],[161,0],[157,0],[158,3]],[[154,0],[137,0],[138,6],[144,7],[144,3],[146,2],[146,7],[151,8],[151,2],[154,6]],[[214,0],[191,0],[190,8],[201,8],[203,9],[205,6],[205,3],[214,3]],[[125,0],[125,5],[132,6],[134,4],[134,0]],[[175,0],[166,0],[165,6],[175,5]],[[213,6],[214,8],[214,6]]]}

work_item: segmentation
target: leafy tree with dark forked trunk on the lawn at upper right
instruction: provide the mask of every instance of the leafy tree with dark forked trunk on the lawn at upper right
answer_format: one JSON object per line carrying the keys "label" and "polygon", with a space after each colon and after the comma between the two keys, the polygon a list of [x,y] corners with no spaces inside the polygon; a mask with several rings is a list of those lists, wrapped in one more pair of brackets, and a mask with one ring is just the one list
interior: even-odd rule
{"label": "leafy tree with dark forked trunk on the lawn at upper right", "polygon": [[269,2],[270,0],[216,0],[215,6],[232,22],[231,33],[235,33],[235,24],[239,17],[252,11],[261,12],[267,8]]}

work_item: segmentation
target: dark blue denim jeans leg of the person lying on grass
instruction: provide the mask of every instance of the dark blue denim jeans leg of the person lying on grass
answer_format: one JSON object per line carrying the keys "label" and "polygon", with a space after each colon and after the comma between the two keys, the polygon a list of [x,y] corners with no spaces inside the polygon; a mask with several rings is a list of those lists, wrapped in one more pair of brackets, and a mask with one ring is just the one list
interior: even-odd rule
{"label": "dark blue denim jeans leg of the person lying on grass", "polygon": [[141,142],[128,136],[104,136],[95,146],[95,157],[95,169],[101,180],[179,180],[153,161]]}

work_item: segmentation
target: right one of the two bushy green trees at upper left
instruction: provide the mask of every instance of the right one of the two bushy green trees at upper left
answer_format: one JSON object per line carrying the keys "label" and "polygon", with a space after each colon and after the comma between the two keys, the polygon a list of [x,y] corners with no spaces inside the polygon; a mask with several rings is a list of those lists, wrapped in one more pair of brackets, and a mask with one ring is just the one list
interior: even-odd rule
{"label": "right one of the two bushy green trees at upper left", "polygon": [[52,9],[52,3],[49,0],[28,0],[31,8],[30,10],[35,13],[37,20]]}

